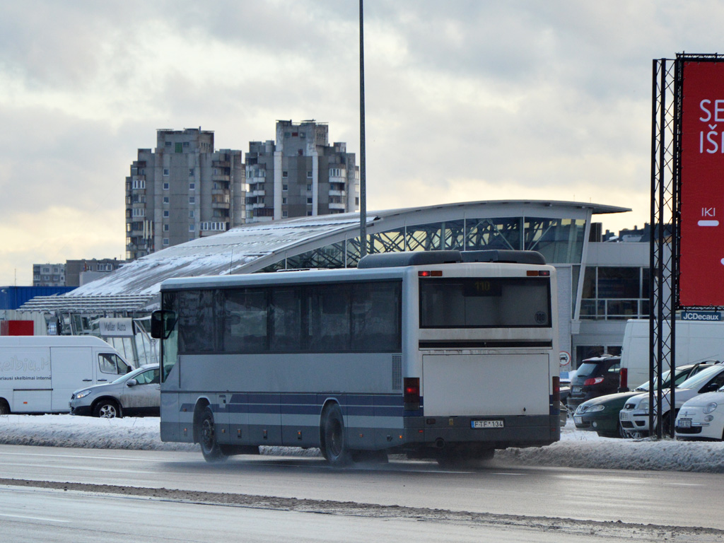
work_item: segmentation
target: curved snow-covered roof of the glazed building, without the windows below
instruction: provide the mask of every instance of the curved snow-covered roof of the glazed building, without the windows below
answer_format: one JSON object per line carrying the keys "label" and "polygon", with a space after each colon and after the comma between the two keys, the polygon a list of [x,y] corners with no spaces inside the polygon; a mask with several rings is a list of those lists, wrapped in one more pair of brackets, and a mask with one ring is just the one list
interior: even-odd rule
{"label": "curved snow-covered roof of the glazed building, without the windows below", "polygon": [[[496,214],[521,213],[522,210],[529,213],[535,210],[536,214],[544,211],[554,216],[570,214],[585,216],[589,211],[593,214],[631,211],[627,208],[595,203],[513,200],[388,209],[370,211],[367,216],[371,233],[384,231],[399,224],[425,224],[436,219],[441,220],[441,216],[447,216],[447,220],[450,220],[450,216],[460,219],[466,216],[466,213],[471,214],[470,216],[476,213],[480,216],[496,216]],[[245,224],[227,232],[201,237],[138,258],[104,277],[78,287],[67,296],[136,294],[147,295],[150,298],[158,294],[164,279],[243,273],[243,268],[261,258],[278,254],[281,259],[285,251],[299,248],[314,240],[325,240],[335,235],[344,235],[345,232],[354,235],[358,224],[359,213],[306,216]]]}

